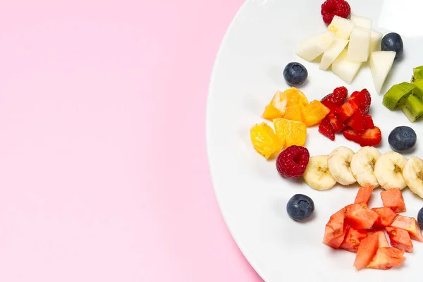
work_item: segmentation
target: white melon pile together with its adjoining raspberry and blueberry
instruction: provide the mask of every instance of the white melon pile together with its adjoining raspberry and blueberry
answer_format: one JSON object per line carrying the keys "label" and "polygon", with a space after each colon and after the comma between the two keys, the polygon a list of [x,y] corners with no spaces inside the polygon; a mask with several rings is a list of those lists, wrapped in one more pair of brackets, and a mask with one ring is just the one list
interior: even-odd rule
{"label": "white melon pile together with its adjoining raspberry and blueberry", "polygon": [[344,0],[328,0],[321,5],[321,15],[329,24],[321,32],[303,40],[296,54],[305,61],[314,61],[321,56],[319,68],[332,72],[350,84],[362,63],[369,61],[374,87],[381,92],[393,61],[403,54],[403,40],[398,33],[383,36],[372,30],[372,20],[352,14],[350,5]]}

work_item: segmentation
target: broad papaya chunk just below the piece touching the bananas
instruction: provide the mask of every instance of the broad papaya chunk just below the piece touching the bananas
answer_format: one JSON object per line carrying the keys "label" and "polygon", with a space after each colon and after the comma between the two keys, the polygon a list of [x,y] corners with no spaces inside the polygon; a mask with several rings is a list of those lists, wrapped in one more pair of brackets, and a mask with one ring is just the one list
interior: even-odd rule
{"label": "broad papaya chunk just below the piece touching the bananas", "polygon": [[378,218],[376,212],[369,209],[367,204],[349,204],[345,210],[345,220],[356,229],[369,229]]}

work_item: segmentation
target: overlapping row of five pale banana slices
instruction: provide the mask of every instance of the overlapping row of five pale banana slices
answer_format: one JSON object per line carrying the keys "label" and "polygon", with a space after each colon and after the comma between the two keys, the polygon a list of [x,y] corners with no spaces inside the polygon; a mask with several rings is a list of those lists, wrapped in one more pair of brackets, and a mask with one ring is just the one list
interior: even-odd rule
{"label": "overlapping row of five pale banana slices", "polygon": [[329,190],[336,183],[352,185],[358,182],[363,187],[380,185],[385,190],[408,187],[423,198],[423,160],[407,159],[393,151],[381,154],[374,147],[362,147],[354,153],[341,146],[329,156],[310,157],[302,177],[307,185],[318,191]]}

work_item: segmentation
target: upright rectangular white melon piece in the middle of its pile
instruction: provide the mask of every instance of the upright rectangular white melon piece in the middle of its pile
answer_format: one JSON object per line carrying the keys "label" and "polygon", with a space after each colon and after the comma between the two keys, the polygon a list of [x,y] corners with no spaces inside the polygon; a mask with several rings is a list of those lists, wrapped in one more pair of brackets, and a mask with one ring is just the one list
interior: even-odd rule
{"label": "upright rectangular white melon piece in the middle of its pile", "polygon": [[369,58],[370,30],[354,27],[348,44],[348,61],[362,63]]}

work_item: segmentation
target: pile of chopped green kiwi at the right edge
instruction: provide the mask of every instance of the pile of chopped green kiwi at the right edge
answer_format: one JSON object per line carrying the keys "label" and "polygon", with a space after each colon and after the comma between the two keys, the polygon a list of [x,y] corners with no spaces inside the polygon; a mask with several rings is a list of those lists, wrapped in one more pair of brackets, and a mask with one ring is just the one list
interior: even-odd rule
{"label": "pile of chopped green kiwi at the right edge", "polygon": [[393,111],[398,107],[413,123],[423,116],[423,66],[413,69],[411,83],[393,85],[384,95],[382,104]]}

